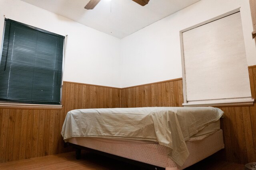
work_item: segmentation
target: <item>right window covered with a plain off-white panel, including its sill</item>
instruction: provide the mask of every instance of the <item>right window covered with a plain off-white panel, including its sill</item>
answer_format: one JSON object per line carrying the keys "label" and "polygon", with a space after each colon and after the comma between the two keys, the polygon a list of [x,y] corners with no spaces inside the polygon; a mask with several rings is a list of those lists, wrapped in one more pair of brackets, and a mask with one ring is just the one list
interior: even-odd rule
{"label": "right window covered with a plain off-white panel, including its sill", "polygon": [[184,106],[253,104],[240,12],[183,30],[181,38]]}

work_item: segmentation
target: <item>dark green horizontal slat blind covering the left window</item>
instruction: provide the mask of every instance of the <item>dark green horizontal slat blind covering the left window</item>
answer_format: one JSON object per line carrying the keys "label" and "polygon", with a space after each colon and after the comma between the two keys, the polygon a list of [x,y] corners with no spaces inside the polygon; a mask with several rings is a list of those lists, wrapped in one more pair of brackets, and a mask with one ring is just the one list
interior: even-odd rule
{"label": "dark green horizontal slat blind covering the left window", "polygon": [[0,100],[60,104],[64,37],[5,20]]}

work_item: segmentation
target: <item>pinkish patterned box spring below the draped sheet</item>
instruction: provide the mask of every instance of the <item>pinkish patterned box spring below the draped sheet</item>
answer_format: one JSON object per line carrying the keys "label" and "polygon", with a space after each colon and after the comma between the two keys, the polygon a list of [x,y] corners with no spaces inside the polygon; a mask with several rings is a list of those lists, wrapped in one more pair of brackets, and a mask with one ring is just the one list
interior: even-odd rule
{"label": "pinkish patterned box spring below the draped sheet", "polygon": [[182,166],[167,156],[168,148],[157,143],[120,142],[114,139],[100,140],[91,137],[72,137],[69,143],[122,156],[124,158],[164,167],[166,170],[182,170],[224,148],[222,130],[208,135],[202,140],[186,141],[189,156]]}

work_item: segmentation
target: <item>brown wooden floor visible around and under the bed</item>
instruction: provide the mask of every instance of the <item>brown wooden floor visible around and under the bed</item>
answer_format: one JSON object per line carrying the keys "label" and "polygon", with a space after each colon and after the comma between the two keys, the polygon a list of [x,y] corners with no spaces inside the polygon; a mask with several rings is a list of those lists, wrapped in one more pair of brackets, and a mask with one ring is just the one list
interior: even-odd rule
{"label": "brown wooden floor visible around and under the bed", "polygon": [[[75,152],[56,154],[0,164],[0,170],[144,170],[138,166],[82,151],[76,160]],[[185,170],[244,170],[243,164],[213,161],[206,158]]]}

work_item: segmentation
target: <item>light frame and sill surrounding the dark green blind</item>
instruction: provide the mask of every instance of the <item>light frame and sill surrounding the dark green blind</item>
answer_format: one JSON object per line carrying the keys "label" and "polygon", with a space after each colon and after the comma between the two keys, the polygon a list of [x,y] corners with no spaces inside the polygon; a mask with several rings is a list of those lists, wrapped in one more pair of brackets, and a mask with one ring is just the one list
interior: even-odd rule
{"label": "light frame and sill surrounding the dark green blind", "polygon": [[[4,18],[4,27],[2,31],[2,42],[1,42],[1,50],[0,50],[0,63],[2,60],[2,52],[3,52],[3,45],[4,45],[4,34],[6,31],[6,20],[11,20],[9,18]],[[61,35],[57,33],[53,33],[50,31],[47,31],[45,29],[40,29],[38,27],[34,27],[32,25],[28,25],[26,23],[22,23],[16,20],[11,20],[15,21],[21,25],[24,25],[26,27],[30,27],[32,29],[35,29],[37,31],[42,31],[44,33],[50,33],[52,35],[57,35],[57,36],[63,36],[63,50],[62,50],[62,70],[61,70],[61,81],[60,81],[60,104],[32,104],[32,103],[25,103],[25,102],[11,102],[11,101],[4,101],[0,100],[0,107],[1,108],[20,108],[20,109],[61,109],[62,108],[62,90],[63,90],[63,73],[64,73],[64,61],[65,61],[65,52],[66,52],[66,41],[67,41],[67,36],[68,35]]]}

